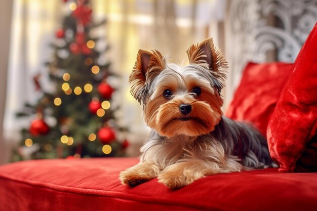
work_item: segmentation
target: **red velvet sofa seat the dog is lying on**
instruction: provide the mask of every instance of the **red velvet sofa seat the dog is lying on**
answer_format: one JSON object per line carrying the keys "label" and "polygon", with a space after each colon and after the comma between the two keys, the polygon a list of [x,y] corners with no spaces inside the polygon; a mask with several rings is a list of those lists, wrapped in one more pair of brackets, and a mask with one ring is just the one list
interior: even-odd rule
{"label": "red velvet sofa seat the dog is lying on", "polygon": [[0,210],[315,210],[317,173],[276,168],[208,176],[171,190],[118,175],[136,158],[31,160],[0,166]]}

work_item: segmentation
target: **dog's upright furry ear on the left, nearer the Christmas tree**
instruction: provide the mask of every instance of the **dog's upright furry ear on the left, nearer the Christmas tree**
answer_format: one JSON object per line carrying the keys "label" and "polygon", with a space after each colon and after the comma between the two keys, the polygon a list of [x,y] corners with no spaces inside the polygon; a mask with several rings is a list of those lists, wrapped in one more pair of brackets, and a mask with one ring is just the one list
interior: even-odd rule
{"label": "dog's upright furry ear on the left, nearer the Christmas tree", "polygon": [[130,74],[132,96],[140,103],[146,95],[146,82],[152,80],[157,74],[165,69],[165,59],[159,51],[139,50],[137,61]]}

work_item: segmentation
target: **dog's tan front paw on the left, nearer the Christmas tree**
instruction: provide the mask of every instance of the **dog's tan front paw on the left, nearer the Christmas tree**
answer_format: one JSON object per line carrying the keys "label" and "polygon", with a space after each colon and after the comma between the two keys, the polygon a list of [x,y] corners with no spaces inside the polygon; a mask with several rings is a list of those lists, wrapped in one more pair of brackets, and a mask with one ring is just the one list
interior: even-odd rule
{"label": "dog's tan front paw on the left, nearer the Christmas tree", "polygon": [[124,185],[136,186],[157,177],[159,172],[159,167],[154,164],[139,163],[121,172],[120,180]]}

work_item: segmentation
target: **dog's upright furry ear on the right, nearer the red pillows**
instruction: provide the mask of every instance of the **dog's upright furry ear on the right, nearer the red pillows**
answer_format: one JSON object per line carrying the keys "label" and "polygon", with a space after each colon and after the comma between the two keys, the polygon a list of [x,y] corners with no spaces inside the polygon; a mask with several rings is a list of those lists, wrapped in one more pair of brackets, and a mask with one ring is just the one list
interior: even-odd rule
{"label": "dog's upright furry ear on the right, nearer the red pillows", "polygon": [[191,45],[186,51],[190,64],[208,64],[212,75],[218,79],[219,89],[224,86],[226,78],[227,61],[223,57],[220,49],[218,49],[212,38],[207,38],[202,43]]}

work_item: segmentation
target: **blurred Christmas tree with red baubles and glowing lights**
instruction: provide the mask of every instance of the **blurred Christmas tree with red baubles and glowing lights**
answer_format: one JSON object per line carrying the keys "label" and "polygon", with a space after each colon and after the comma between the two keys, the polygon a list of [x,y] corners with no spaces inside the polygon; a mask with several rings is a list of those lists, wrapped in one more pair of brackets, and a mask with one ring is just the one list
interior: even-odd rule
{"label": "blurred Christmas tree with red baubles and glowing lights", "polygon": [[108,82],[118,76],[110,71],[109,63],[98,63],[108,48],[97,51],[95,45],[101,38],[90,33],[105,21],[92,21],[87,0],[64,3],[69,14],[56,31],[54,54],[47,63],[54,90],[43,89],[39,74],[34,76],[36,92],[41,92],[42,97],[34,105],[26,103],[17,113],[18,117],[32,120],[21,131],[21,146],[15,150],[13,161],[122,156],[128,144],[124,135],[117,138],[126,129],[116,124],[114,113],[119,108],[111,105],[115,89]]}

